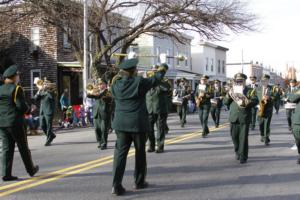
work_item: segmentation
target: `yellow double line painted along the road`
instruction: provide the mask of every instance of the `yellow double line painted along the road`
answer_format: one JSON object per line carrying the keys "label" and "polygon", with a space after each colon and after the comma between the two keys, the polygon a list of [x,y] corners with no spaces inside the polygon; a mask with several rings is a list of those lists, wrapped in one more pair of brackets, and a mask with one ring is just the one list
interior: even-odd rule
{"label": "yellow double line painted along the road", "polygon": [[[226,126],[228,126],[228,123],[222,124],[219,126],[219,128],[211,128],[210,131],[216,131],[219,129],[222,129]],[[194,133],[187,133],[175,138],[171,138],[165,141],[165,144],[174,144],[174,143],[178,143],[184,140],[188,140],[191,138],[194,138],[196,136],[200,136],[201,132],[194,132]],[[131,149],[128,153],[128,157],[132,157],[135,155],[135,151],[134,149]],[[74,165],[72,167],[67,167],[61,170],[57,170],[45,175],[41,175],[41,176],[37,176],[34,178],[30,178],[27,180],[23,180],[20,182],[16,182],[16,183],[12,183],[12,184],[8,184],[8,185],[4,185],[2,187],[0,187],[0,197],[4,197],[16,192],[20,192],[29,188],[33,188],[39,185],[43,185],[49,182],[53,182],[56,180],[59,180],[61,178],[67,177],[67,176],[71,176],[74,174],[78,174],[80,172],[83,171],[87,171],[90,169],[94,169],[97,167],[101,167],[103,165],[106,164],[110,164],[113,162],[113,156],[106,156],[104,158],[101,159],[97,159],[97,160],[93,160],[93,161],[89,161],[86,163],[82,163],[82,164],[78,164],[78,165]]]}

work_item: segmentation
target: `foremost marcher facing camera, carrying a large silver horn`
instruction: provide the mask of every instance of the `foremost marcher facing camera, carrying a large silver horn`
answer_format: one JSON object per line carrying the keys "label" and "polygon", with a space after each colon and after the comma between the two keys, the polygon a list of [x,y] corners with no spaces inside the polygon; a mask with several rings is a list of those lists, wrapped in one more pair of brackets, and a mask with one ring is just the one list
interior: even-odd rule
{"label": "foremost marcher facing camera, carrying a large silver horn", "polygon": [[[241,164],[248,159],[248,135],[251,109],[258,103],[255,90],[246,86],[247,76],[238,73],[234,76],[234,86],[224,97],[224,104],[230,106],[230,132],[234,144],[235,157]],[[242,95],[241,98],[237,98]]]}

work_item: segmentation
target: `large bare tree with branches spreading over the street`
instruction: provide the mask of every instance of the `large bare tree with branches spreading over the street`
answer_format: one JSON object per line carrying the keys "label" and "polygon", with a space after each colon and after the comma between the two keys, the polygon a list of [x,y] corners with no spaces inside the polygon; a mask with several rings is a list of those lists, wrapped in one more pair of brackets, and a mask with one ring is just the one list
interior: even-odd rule
{"label": "large bare tree with branches spreading over the street", "polygon": [[[78,60],[82,61],[82,2],[24,2],[31,12],[41,14],[43,20],[68,34]],[[230,32],[255,30],[256,16],[239,0],[91,0],[88,21],[93,36],[93,63],[99,69],[103,62],[112,66],[111,55],[117,51],[125,53],[142,34],[159,33],[184,43],[181,32],[190,31],[220,40]]]}

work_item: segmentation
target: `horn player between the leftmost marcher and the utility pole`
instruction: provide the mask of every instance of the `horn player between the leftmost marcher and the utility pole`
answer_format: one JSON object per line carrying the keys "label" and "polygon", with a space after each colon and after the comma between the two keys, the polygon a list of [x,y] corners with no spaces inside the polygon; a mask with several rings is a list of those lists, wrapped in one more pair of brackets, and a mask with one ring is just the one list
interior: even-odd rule
{"label": "horn player between the leftmost marcher and the utility pole", "polygon": [[52,122],[55,113],[55,88],[48,80],[38,80],[38,92],[35,101],[40,101],[40,126],[46,135],[45,146],[50,146],[56,135],[53,133]]}

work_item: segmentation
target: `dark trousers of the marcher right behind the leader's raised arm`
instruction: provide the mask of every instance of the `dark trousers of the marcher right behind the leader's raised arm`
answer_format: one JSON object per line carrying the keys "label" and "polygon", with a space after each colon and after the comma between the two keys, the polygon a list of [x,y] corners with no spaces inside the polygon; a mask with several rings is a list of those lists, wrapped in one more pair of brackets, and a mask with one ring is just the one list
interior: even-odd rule
{"label": "dark trousers of the marcher right behind the leader's raised arm", "polygon": [[165,137],[166,137],[166,124],[167,124],[167,113],[164,114],[150,114],[149,115],[149,149],[155,149],[155,131],[154,125],[157,126],[157,135],[156,135],[156,143],[157,149],[163,150],[165,145]]}

